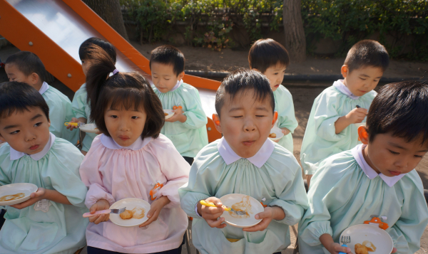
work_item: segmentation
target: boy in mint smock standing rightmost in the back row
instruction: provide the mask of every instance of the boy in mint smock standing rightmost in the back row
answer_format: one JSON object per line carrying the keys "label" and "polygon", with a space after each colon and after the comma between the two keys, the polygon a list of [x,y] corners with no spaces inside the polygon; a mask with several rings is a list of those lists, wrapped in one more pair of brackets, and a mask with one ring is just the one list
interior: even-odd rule
{"label": "boy in mint smock standing rightmost in the back row", "polygon": [[365,120],[377,83],[389,65],[387,50],[377,41],[365,40],[352,46],[337,80],[315,99],[303,137],[300,162],[310,177],[320,162],[333,154],[355,147],[357,126]]}

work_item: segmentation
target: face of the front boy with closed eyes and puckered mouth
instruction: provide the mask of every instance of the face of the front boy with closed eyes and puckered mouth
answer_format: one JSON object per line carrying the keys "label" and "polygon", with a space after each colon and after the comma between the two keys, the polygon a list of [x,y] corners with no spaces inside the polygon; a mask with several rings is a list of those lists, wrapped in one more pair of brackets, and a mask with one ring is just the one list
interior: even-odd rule
{"label": "face of the front boy with closed eyes and puckered mouth", "polygon": [[243,158],[253,157],[260,150],[274,124],[268,99],[255,100],[254,95],[254,90],[244,90],[230,100],[227,94],[220,112],[220,132]]}

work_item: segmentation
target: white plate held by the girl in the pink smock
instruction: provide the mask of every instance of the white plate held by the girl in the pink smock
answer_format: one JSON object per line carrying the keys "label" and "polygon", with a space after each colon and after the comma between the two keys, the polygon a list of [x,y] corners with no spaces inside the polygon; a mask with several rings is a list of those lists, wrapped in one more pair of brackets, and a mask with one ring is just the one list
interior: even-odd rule
{"label": "white plate held by the girl in the pink smock", "polygon": [[147,201],[144,201],[143,199],[136,199],[136,198],[130,198],[130,199],[121,199],[117,201],[116,203],[113,203],[113,205],[110,206],[110,209],[120,209],[123,207],[126,207],[126,210],[132,210],[133,208],[136,208],[136,206],[144,208],[144,217],[143,218],[130,218],[128,220],[123,220],[121,216],[119,216],[116,213],[110,213],[110,221],[115,223],[118,226],[123,227],[133,227],[143,224],[145,221],[148,220],[147,213],[150,210],[150,203]]}

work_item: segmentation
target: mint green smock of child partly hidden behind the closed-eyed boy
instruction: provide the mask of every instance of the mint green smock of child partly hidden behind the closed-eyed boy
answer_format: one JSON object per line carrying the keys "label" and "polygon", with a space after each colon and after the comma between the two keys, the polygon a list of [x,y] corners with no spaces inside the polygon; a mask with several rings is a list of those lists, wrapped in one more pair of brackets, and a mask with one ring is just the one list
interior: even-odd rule
{"label": "mint green smock of child partly hidden behind the closed-eyed boy", "polygon": [[282,137],[278,141],[278,144],[292,153],[292,133],[294,133],[298,123],[295,117],[291,93],[283,85],[280,85],[273,92],[273,97],[275,97],[275,111],[278,112],[278,120],[275,125],[280,128],[290,129],[290,133]]}

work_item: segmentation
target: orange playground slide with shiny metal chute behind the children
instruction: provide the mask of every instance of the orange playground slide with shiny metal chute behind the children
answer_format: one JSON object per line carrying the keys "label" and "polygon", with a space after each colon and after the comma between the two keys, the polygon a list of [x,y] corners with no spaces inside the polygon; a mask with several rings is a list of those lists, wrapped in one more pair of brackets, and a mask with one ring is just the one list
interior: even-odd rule
{"label": "orange playground slide with shiny metal chute behind the children", "polygon": [[[21,51],[39,55],[49,73],[73,91],[85,82],[78,48],[90,37],[103,38],[117,48],[118,70],[138,71],[150,79],[148,59],[81,0],[0,0],[0,34]],[[192,75],[183,80],[200,91],[209,140],[218,139],[221,134],[210,117],[220,83]]]}

